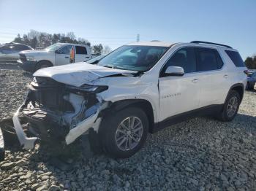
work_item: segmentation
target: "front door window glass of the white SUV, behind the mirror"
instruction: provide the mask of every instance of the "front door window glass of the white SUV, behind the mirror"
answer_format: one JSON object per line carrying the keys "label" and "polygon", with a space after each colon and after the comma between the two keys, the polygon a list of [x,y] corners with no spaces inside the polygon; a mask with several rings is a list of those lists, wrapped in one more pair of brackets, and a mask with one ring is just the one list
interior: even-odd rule
{"label": "front door window glass of the white SUV, behind the mirror", "polygon": [[196,71],[195,50],[193,47],[181,48],[165,63],[164,71],[168,66],[180,66],[185,73]]}

